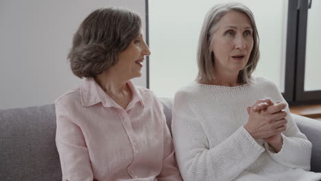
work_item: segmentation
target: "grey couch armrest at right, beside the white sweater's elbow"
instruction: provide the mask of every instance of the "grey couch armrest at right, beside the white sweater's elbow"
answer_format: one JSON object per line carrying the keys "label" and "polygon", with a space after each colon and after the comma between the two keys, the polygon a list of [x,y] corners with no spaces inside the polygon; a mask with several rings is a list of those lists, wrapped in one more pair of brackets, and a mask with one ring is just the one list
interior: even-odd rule
{"label": "grey couch armrest at right, beside the white sweater's elbow", "polygon": [[300,131],[312,143],[311,171],[321,172],[321,121],[292,114]]}

